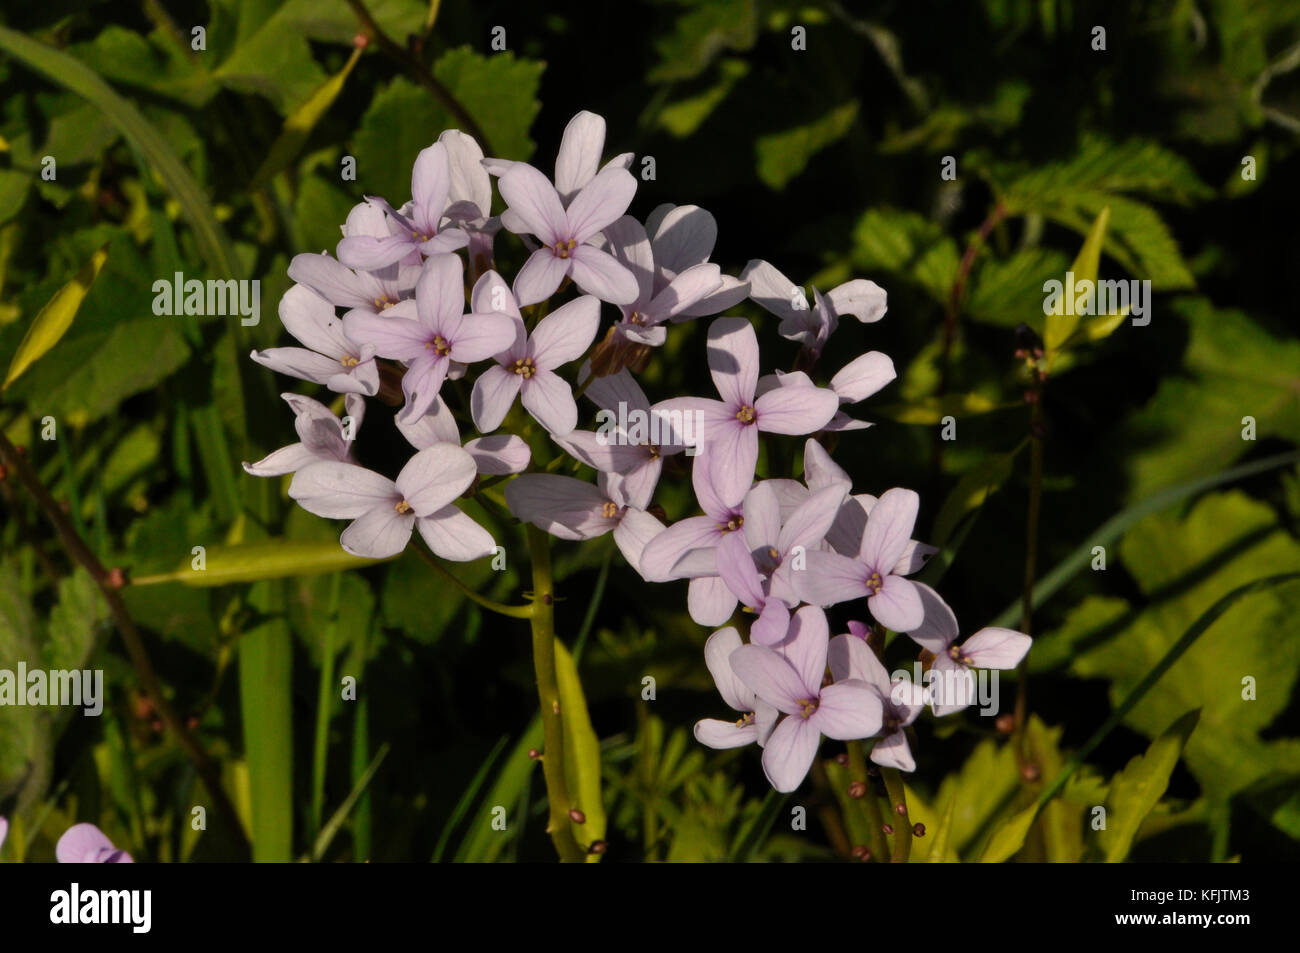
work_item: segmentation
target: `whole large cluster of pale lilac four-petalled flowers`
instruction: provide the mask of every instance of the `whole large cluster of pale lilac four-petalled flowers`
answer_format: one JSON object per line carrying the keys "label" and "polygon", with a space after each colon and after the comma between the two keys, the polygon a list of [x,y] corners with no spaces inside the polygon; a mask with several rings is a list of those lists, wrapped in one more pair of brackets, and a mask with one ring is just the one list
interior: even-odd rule
{"label": "whole large cluster of pale lilac four-petalled flowers", "polygon": [[[849,475],[815,437],[803,447],[802,482],[755,482],[759,434],[868,426],[842,408],[893,380],[888,356],[862,354],[828,386],[818,386],[809,371],[841,317],[866,324],[884,316],[884,291],[855,280],[826,295],[814,289],[810,306],[802,289],[766,261],[750,261],[738,278],[723,274],[708,261],[714,217],[694,205],[660,205],[644,224],[628,216],[632,156],[602,166],[603,148],[604,121],[578,113],[549,179],[532,165],[485,159],[472,138],[448,130],[416,159],[411,202],[393,208],[368,198],[348,215],[335,256],[296,256],[289,268],[296,283],[280,315],[303,347],[252,358],[346,395],[347,419],[286,394],[300,442],[246,469],[292,473],[289,495],[300,506],[352,520],[341,537],[348,553],[391,556],[419,530],[450,560],[493,553],[491,534],[455,501],[481,478],[508,477],[504,498],[517,519],[564,540],[612,530],[646,581],[689,580],[689,611],[701,625],[727,624],[737,605],[754,614],[748,644],[731,627],[707,641],[718,689],[741,718],[699,722],[699,741],[758,742],[767,776],[783,792],[803,780],[823,735],[875,737],[876,763],[914,770],[904,729],[927,694],[890,683],[868,645],[867,624],[850,623],[848,633],[831,638],[823,607],[866,599],[878,627],[907,633],[933,671],[958,680],[970,679],[971,667],[1013,668],[1030,638],[988,628],[958,644],[949,607],[907,579],[933,553],[911,538],[919,502],[911,490],[889,489],[879,499],[854,494]],[[491,215],[491,177],[506,205],[499,216]],[[502,229],[529,250],[512,285],[495,270]],[[577,294],[549,309],[569,285]],[[707,333],[718,399],[651,404],[634,374],[664,343],[667,326],[719,315],[746,298],[779,317],[779,333],[802,346],[797,369],[760,374],[750,322],[718,317]],[[602,302],[618,308],[619,320],[597,341]],[[482,363],[468,399],[456,385],[446,386]],[[649,429],[654,442],[645,429],[621,423],[612,432],[577,429],[577,400],[559,373],[575,363],[580,394],[611,419],[620,411],[619,421],[638,415],[663,421]],[[415,451],[395,480],[351,455],[364,398],[376,395],[403,403],[396,428]],[[452,410],[448,397],[467,410]],[[516,397],[559,450],[595,471],[594,482],[538,469],[529,443],[498,430]],[[682,415],[698,421],[693,436],[680,426]],[[462,443],[458,417],[472,421],[478,436]],[[693,455],[703,515],[664,527],[651,498],[663,458],[680,452]],[[966,693],[967,703],[972,697]],[[930,701],[936,714],[965,707]]]}

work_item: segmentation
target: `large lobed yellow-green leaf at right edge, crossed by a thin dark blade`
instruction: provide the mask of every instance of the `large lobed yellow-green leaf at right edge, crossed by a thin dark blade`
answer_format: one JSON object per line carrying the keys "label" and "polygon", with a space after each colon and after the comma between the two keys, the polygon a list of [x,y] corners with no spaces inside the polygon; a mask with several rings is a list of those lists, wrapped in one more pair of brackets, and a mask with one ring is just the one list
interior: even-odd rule
{"label": "large lobed yellow-green leaf at right edge, crossed by a thin dark blade", "polygon": [[[1300,543],[1273,510],[1243,493],[1202,498],[1186,519],[1157,515],[1134,527],[1121,558],[1148,607],[1101,645],[1080,653],[1071,671],[1110,679],[1118,703],[1225,593],[1273,573],[1300,571]],[[1187,744],[1188,768],[1214,800],[1270,775],[1300,774],[1300,741],[1261,740],[1287,707],[1300,676],[1300,585],[1279,585],[1231,606],[1187,649],[1124,718],[1157,737],[1191,709],[1202,731]],[[1252,679],[1253,683],[1247,683]],[[1253,684],[1253,697],[1248,685]]]}

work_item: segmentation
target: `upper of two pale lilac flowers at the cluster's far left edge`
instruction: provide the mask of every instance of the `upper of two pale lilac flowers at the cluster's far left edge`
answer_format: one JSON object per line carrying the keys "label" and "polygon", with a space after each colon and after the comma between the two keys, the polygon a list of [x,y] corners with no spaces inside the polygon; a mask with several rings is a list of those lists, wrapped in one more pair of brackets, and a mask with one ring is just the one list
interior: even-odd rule
{"label": "upper of two pale lilac flowers at the cluster's far left edge", "polygon": [[380,390],[374,347],[348,337],[334,306],[306,285],[294,285],[280,299],[285,330],[306,347],[272,347],[254,351],[252,359],[282,374],[322,384],[335,394],[365,394]]}

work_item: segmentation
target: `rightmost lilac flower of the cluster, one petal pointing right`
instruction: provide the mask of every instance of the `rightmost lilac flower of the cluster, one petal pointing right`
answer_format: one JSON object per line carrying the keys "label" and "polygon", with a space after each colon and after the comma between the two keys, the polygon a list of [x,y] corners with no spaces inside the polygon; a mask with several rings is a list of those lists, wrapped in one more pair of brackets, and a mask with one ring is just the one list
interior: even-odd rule
{"label": "rightmost lilac flower of the cluster, one petal pointing right", "polygon": [[936,715],[950,715],[975,701],[975,676],[971,668],[1015,668],[1028,653],[1034,640],[1023,632],[989,625],[957,645],[957,616],[939,593],[915,582],[924,607],[924,620],[907,632],[922,649],[933,653],[931,666],[931,709]]}

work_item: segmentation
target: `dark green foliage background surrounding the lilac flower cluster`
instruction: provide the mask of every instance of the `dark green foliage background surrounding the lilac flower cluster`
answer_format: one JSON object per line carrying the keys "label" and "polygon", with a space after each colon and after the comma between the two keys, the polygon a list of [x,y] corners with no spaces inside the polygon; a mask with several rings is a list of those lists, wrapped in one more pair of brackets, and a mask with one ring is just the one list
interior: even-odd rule
{"label": "dark green foliage background surrounding the lilac flower cluster", "polygon": [[[1052,0],[434,8],[422,56],[497,155],[536,156],[549,170],[564,124],[592,109],[608,121],[608,153],[636,151],[634,170],[654,157],[655,178],[641,182],[632,212],[660,202],[710,209],[725,270],[763,257],[823,290],[849,277],[888,290],[885,320],[842,326],[831,361],[883,350],[900,377],[859,408],[878,425],[842,438],[836,454],[859,490],[915,488],[922,538],[959,538],[944,593],[963,632],[1020,593],[1028,454],[1004,456],[1028,432],[1014,352],[1030,338],[1017,329],[1041,334],[1043,282],[1062,276],[1104,207],[1102,276],[1150,280],[1153,320],[1071,352],[1046,385],[1040,576],[1154,491],[1300,442],[1294,4],[1160,0],[1122,14]],[[399,43],[422,35],[430,13],[420,0],[376,0],[370,10]],[[0,39],[0,363],[51,295],[109,246],[73,326],[5,390],[0,426],[29,449],[100,559],[133,579],[174,571],[194,545],[335,538],[337,524],[280,504],[277,481],[259,486],[238,469],[292,439],[276,398],[292,384],[246,355],[281,341],[273,313],[289,259],[332,248],[363,194],[404,199],[415,153],[455,120],[374,44],[346,66],[358,21],[343,0],[68,0],[6,9],[4,23],[134,104],[198,181],[203,215],[230,244],[204,244],[156,157],[87,100],[79,73],[42,74]],[[202,52],[188,44],[195,25],[207,30]],[[498,25],[508,52],[489,46]],[[790,48],[796,25],[807,30],[806,51]],[[1105,51],[1092,49],[1096,25]],[[315,114],[318,91],[344,72],[337,99]],[[57,160],[52,182],[39,174],[46,155]],[[344,155],[356,159],[355,182],[339,177]],[[956,181],[940,177],[944,156],[957,160]],[[1243,179],[1244,156],[1256,159],[1254,181]],[[987,246],[975,241],[982,224]],[[259,278],[264,320],[246,329],[155,316],[152,283],[177,270]],[[764,354],[793,359],[772,321],[748,313]],[[945,320],[956,332],[946,356]],[[668,359],[647,373],[653,394],[705,380],[702,339],[693,325],[671,335]],[[942,395],[963,408],[952,443],[937,439]],[[382,433],[381,411],[372,415],[367,432]],[[1253,442],[1242,438],[1247,415]],[[57,421],[56,441],[39,437],[44,416]],[[400,452],[391,433],[391,447],[363,436],[368,465],[391,472]],[[770,463],[784,476],[797,462]],[[989,484],[996,491],[978,506],[974,490]],[[686,486],[660,491],[670,516],[686,512]],[[0,667],[18,658],[101,667],[110,688],[100,719],[0,709],[0,814],[21,824],[0,857],[48,859],[78,819],[138,859],[247,857],[212,814],[207,833],[191,829],[202,788],[157,729],[103,598],[30,498],[13,481],[0,490]],[[1300,569],[1297,519],[1292,462],[1136,521],[1108,546],[1105,572],[1075,575],[1035,616],[1030,770],[987,719],[923,720],[913,819],[942,824],[950,850],[978,857],[1000,819],[1214,599]],[[508,572],[467,569],[497,598],[526,588],[514,568],[523,547],[506,545]],[[698,746],[690,725],[720,705],[702,663],[707,632],[686,616],[684,585],[649,588],[611,550],[610,540],[566,545],[556,564],[567,597],[559,631],[581,646],[602,740],[607,859],[842,854],[853,807],[838,766],[783,805],[766,796],[753,751]],[[381,750],[322,859],[551,855],[526,754],[538,735],[525,627],[484,618],[412,553],[346,573],[131,585],[124,595],[259,858],[313,853]],[[1292,584],[1212,627],[1092,754],[1018,857],[1106,853],[1086,824],[1089,806],[1117,797],[1115,772],[1200,709],[1131,855],[1295,859],[1297,610]],[[906,660],[901,642],[894,657]],[[361,701],[322,707],[337,699],[321,693],[322,676],[334,685],[343,675],[359,677]],[[653,702],[641,701],[646,675],[656,679]],[[1258,683],[1253,702],[1240,698],[1245,675]],[[780,820],[794,803],[809,807],[807,832]],[[507,806],[507,833],[490,829],[494,805]],[[956,807],[945,816],[946,805]],[[932,842],[916,841],[914,855]]]}

